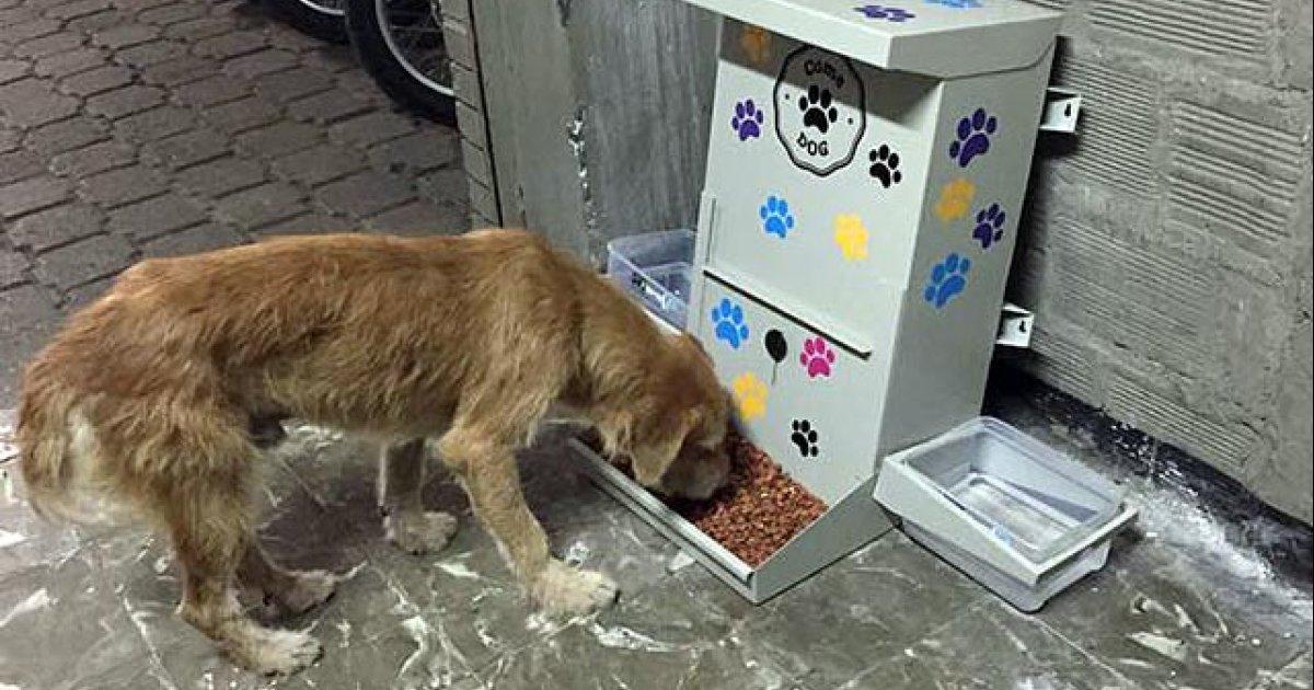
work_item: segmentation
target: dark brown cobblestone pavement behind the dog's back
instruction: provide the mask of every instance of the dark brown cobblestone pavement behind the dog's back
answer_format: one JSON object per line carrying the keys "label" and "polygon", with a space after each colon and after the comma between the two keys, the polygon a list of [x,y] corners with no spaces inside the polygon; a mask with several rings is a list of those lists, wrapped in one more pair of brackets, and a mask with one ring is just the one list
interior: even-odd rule
{"label": "dark brown cobblestone pavement behind the dog's back", "polygon": [[456,133],[259,5],[0,0],[0,409],[139,258],[466,217]]}

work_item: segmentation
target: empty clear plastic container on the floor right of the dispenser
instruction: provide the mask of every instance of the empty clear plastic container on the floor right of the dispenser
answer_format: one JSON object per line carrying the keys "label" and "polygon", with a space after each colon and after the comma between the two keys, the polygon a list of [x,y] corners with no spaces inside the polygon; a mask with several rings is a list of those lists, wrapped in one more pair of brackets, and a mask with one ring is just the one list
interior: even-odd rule
{"label": "empty clear plastic container on the floor right of the dispenser", "polygon": [[988,417],[887,456],[875,498],[918,543],[1024,611],[1104,566],[1126,489]]}

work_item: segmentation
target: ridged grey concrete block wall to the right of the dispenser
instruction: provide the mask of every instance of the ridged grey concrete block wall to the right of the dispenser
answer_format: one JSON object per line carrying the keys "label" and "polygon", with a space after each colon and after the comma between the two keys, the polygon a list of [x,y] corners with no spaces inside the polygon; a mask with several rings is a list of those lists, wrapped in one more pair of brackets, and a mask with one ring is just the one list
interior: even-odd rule
{"label": "ridged grey concrete block wall to the right of the dispenser", "polygon": [[1310,522],[1310,3],[1039,4],[1085,101],[1033,171],[1025,367]]}

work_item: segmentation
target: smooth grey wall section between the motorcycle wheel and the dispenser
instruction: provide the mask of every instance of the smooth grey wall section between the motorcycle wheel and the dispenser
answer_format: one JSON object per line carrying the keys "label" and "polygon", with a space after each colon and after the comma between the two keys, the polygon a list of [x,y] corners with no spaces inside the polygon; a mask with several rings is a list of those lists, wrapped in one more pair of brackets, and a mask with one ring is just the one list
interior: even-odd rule
{"label": "smooth grey wall section between the motorcycle wheel and the dispenser", "polygon": [[677,0],[473,0],[503,222],[600,264],[614,237],[692,227],[716,21]]}

